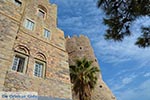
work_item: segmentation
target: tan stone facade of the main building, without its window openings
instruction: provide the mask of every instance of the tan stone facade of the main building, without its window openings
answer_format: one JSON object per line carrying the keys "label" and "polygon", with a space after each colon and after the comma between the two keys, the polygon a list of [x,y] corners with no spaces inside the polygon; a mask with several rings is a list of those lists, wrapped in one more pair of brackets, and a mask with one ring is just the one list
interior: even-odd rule
{"label": "tan stone facade of the main building, without its window openings", "polygon": [[[0,90],[32,91],[40,96],[72,99],[68,53],[64,33],[57,28],[57,7],[48,0],[0,0]],[[38,9],[46,16],[38,16]],[[34,29],[24,27],[25,20],[34,22]],[[45,38],[43,30],[50,31]],[[12,70],[16,54],[26,57],[23,73]],[[45,63],[43,77],[33,75],[36,60]]]}

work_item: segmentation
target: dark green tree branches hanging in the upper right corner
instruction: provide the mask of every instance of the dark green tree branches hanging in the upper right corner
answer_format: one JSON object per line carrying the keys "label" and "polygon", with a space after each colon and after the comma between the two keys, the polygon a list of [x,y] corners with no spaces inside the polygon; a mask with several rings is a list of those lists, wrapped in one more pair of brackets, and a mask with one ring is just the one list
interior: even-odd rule
{"label": "dark green tree branches hanging in the upper right corner", "polygon": [[[137,17],[150,16],[150,0],[98,0],[98,7],[106,13],[104,24],[109,28],[104,36],[107,40],[122,41],[125,36],[132,34],[130,26]],[[139,37],[135,44],[139,47],[149,47],[150,41],[143,40],[145,33],[142,33],[142,38]],[[150,35],[150,32],[147,34]]]}

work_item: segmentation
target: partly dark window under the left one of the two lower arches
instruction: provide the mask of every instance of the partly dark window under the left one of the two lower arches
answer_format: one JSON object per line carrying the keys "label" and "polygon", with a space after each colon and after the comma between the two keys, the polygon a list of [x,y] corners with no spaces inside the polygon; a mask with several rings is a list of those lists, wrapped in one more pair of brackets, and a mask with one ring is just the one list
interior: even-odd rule
{"label": "partly dark window under the left one of the two lower arches", "polygon": [[25,66],[25,57],[16,55],[14,57],[12,70],[23,73]]}

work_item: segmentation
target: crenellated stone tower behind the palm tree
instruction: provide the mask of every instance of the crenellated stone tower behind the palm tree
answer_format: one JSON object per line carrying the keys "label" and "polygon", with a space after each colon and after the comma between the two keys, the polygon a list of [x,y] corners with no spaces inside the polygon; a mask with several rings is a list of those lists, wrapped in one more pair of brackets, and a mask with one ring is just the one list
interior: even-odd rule
{"label": "crenellated stone tower behind the palm tree", "polygon": [[[85,57],[93,61],[92,66],[99,67],[90,41],[86,36],[81,35],[79,37],[66,38],[66,49],[69,54],[69,65],[74,65],[76,59]],[[116,100],[110,89],[104,83],[101,73],[99,73],[98,77],[97,85],[92,93],[92,100]],[[79,100],[75,94],[73,94],[73,100]]]}

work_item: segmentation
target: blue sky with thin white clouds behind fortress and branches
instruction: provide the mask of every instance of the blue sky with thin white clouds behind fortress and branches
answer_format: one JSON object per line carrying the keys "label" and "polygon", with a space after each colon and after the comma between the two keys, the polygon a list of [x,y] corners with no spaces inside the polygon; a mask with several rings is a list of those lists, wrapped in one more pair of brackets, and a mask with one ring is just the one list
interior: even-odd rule
{"label": "blue sky with thin white clouds behind fortress and branches", "polygon": [[58,5],[58,27],[65,35],[86,35],[98,58],[103,79],[117,100],[150,100],[150,48],[134,45],[140,26],[150,26],[144,16],[132,23],[132,36],[117,43],[104,40],[104,12],[96,0],[51,0]]}

